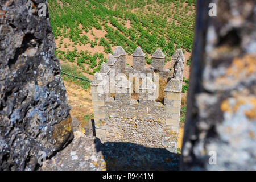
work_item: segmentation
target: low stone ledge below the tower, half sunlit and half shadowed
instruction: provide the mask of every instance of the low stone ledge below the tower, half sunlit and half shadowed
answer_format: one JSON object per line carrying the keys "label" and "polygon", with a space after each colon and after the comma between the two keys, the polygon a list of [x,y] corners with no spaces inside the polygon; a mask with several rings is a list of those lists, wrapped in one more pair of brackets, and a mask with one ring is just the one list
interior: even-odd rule
{"label": "low stone ledge below the tower, half sunlit and half shadowed", "polygon": [[177,170],[179,155],[163,148],[124,142],[102,144],[80,131],[64,150],[46,160],[40,170]]}

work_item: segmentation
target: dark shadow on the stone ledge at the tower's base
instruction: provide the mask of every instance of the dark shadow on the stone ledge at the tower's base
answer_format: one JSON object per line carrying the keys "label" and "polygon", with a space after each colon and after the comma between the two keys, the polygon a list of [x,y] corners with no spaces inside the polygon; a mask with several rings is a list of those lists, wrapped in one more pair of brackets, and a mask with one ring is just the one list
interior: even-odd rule
{"label": "dark shadow on the stone ledge at the tower's base", "polygon": [[107,170],[179,170],[179,154],[164,148],[144,147],[130,142],[94,140],[97,152],[104,155]]}

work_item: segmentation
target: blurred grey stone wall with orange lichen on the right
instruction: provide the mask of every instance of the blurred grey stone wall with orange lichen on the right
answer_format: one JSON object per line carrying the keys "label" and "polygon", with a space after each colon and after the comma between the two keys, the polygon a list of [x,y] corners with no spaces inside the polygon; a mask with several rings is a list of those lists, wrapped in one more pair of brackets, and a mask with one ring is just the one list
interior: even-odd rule
{"label": "blurred grey stone wall with orange lichen on the right", "polygon": [[182,169],[255,170],[255,1],[216,1],[217,17],[210,2],[197,2]]}

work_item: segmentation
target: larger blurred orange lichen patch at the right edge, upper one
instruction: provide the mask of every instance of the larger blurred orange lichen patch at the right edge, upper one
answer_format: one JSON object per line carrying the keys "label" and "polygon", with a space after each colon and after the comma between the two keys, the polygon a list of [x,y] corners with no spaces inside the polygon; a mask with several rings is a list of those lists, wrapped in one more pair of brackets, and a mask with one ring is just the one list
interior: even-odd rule
{"label": "larger blurred orange lichen patch at the right edge, upper one", "polygon": [[226,74],[216,78],[218,84],[232,85],[233,81],[244,80],[251,74],[256,73],[256,56],[245,55],[241,58],[234,57]]}

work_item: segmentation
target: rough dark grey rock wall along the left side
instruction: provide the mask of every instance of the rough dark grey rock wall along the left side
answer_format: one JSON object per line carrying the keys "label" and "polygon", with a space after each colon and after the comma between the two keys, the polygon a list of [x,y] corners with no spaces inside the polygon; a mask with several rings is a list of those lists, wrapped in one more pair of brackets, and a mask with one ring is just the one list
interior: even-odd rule
{"label": "rough dark grey rock wall along the left side", "polygon": [[51,156],[72,137],[71,107],[55,42],[38,4],[1,1],[0,170],[32,170],[39,151]]}

